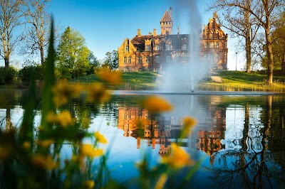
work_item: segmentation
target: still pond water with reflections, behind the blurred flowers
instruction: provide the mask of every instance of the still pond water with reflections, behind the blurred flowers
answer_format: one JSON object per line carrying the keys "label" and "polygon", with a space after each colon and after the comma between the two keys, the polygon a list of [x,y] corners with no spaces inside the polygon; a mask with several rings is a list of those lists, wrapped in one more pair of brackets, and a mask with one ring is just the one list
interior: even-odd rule
{"label": "still pond water with reflections, behind the blurred flowers", "polygon": [[[0,126],[19,126],[24,90],[0,90]],[[187,186],[191,188],[284,188],[285,187],[285,97],[250,93],[160,94],[172,112],[152,115],[140,106],[149,93],[115,92],[113,99],[96,106],[74,99],[68,107],[73,117],[90,117],[89,131],[100,131],[109,141],[110,173],[129,188],[138,176],[135,163],[147,153],[155,166],[168,156],[170,143],[180,146],[199,164]],[[41,111],[35,107],[35,125]],[[85,114],[86,112],[86,114]],[[184,117],[197,125],[186,139],[178,139]],[[135,121],[150,119],[152,126],[138,128]],[[9,124],[7,124],[9,122]],[[89,141],[86,141],[89,142]],[[63,153],[71,154],[70,144]],[[181,171],[181,175],[188,171]]]}

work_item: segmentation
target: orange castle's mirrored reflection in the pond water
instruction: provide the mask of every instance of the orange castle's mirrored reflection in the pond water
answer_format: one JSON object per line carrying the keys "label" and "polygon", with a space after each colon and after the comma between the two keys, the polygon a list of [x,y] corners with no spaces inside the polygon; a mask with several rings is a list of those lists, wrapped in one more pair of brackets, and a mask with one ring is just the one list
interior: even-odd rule
{"label": "orange castle's mirrored reflection in the pond water", "polygon": [[[210,103],[207,110],[209,114],[207,114],[204,123],[199,123],[192,131],[190,141],[182,140],[183,142],[179,142],[179,145],[190,146],[190,148],[212,155],[224,148],[221,140],[224,139],[226,129],[226,109],[217,107],[215,103]],[[145,124],[138,126],[139,120]],[[152,148],[160,145],[160,156],[170,154],[170,143],[180,139],[182,127],[182,121],[179,118],[152,117],[142,107],[124,106],[118,108],[118,128],[124,131],[124,136],[132,136],[137,139],[137,148],[140,148],[141,140],[147,140],[148,146],[152,146]]]}

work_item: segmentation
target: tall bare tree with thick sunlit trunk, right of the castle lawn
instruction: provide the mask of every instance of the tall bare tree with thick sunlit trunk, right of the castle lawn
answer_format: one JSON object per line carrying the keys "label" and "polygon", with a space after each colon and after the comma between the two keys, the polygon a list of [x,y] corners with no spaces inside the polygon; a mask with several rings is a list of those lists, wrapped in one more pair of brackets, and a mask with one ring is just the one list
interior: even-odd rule
{"label": "tall bare tree with thick sunlit trunk, right of the castle lawn", "polygon": [[229,9],[235,7],[241,11],[248,11],[257,21],[260,26],[264,28],[266,38],[266,56],[267,56],[267,84],[271,85],[273,82],[273,68],[274,59],[272,53],[271,40],[271,20],[276,11],[284,0],[252,0],[251,6],[248,6],[248,0],[214,0],[212,9]]}

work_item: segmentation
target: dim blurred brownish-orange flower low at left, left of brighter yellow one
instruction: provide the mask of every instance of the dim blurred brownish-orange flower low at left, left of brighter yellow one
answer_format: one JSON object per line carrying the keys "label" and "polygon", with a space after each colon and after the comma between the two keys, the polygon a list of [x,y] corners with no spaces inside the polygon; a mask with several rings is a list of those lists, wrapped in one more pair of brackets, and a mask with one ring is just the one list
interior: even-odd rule
{"label": "dim blurred brownish-orange flower low at left, left of brighter yellow one", "polygon": [[31,161],[34,165],[40,166],[46,170],[52,170],[56,168],[56,162],[53,161],[53,158],[50,155],[43,156],[37,154],[31,158]]}

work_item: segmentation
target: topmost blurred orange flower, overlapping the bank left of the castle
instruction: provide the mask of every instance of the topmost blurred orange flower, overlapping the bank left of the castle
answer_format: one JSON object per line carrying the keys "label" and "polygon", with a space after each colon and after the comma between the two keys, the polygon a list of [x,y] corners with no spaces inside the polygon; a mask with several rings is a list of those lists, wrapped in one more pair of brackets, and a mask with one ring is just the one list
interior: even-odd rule
{"label": "topmost blurred orange flower, overlapping the bank left of the castle", "polygon": [[121,72],[113,71],[104,68],[98,72],[98,77],[104,82],[108,82],[111,85],[120,85],[122,82]]}

